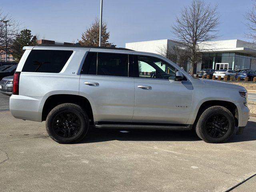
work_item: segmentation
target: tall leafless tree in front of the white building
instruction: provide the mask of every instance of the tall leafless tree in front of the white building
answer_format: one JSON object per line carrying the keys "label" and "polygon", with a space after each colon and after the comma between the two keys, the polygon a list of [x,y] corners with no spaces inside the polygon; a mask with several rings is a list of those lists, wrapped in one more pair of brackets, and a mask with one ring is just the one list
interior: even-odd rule
{"label": "tall leafless tree in front of the white building", "polygon": [[190,6],[182,8],[180,16],[176,17],[176,23],[172,31],[176,40],[191,50],[190,74],[194,74],[194,65],[200,61],[200,43],[205,43],[217,38],[217,27],[219,25],[219,14],[217,5],[211,6],[204,0],[192,0]]}

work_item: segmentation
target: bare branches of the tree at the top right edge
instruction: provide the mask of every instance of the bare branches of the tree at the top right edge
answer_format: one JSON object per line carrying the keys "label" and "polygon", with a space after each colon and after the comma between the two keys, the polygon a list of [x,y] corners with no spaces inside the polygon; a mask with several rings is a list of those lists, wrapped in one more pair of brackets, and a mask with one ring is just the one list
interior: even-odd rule
{"label": "bare branches of the tree at the top right edge", "polygon": [[247,20],[246,26],[249,29],[249,32],[246,33],[246,37],[256,42],[256,1],[254,0],[254,4],[252,9],[249,10],[244,18]]}

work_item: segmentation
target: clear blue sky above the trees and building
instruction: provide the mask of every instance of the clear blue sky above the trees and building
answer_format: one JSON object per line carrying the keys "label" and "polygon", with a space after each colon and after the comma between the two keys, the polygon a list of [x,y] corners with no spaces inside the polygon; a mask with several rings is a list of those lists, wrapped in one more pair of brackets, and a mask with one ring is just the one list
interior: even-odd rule
{"label": "clear blue sky above the trees and building", "polygon": [[[218,4],[218,39],[248,40],[244,15],[252,0],[206,0]],[[125,43],[173,39],[171,26],[180,9],[191,0],[103,0],[103,21],[110,31],[109,42]],[[77,42],[82,33],[100,16],[100,0],[5,0],[2,12],[10,14],[40,38]]]}

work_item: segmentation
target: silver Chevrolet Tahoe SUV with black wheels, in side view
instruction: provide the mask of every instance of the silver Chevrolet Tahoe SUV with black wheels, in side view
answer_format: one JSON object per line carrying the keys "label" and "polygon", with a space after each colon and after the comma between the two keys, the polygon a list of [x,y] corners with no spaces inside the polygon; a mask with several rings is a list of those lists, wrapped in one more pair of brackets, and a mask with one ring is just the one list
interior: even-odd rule
{"label": "silver Chevrolet Tahoe SUV with black wheels, in side view", "polygon": [[59,143],[96,128],[191,130],[212,143],[242,134],[242,86],[192,78],[170,60],[124,48],[28,46],[10,97],[15,118],[46,121]]}

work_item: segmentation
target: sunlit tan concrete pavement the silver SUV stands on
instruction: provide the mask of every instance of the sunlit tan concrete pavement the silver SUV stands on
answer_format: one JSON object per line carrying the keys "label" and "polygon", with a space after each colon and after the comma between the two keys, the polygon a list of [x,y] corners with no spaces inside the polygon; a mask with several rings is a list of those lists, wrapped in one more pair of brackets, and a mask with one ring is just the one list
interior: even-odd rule
{"label": "sunlit tan concrete pavement the silver SUV stands on", "polygon": [[[0,191],[216,191],[256,174],[256,118],[242,135],[208,144],[192,131],[98,130],[58,144],[45,122],[18,120],[0,96]],[[254,191],[255,177],[234,191]]]}

